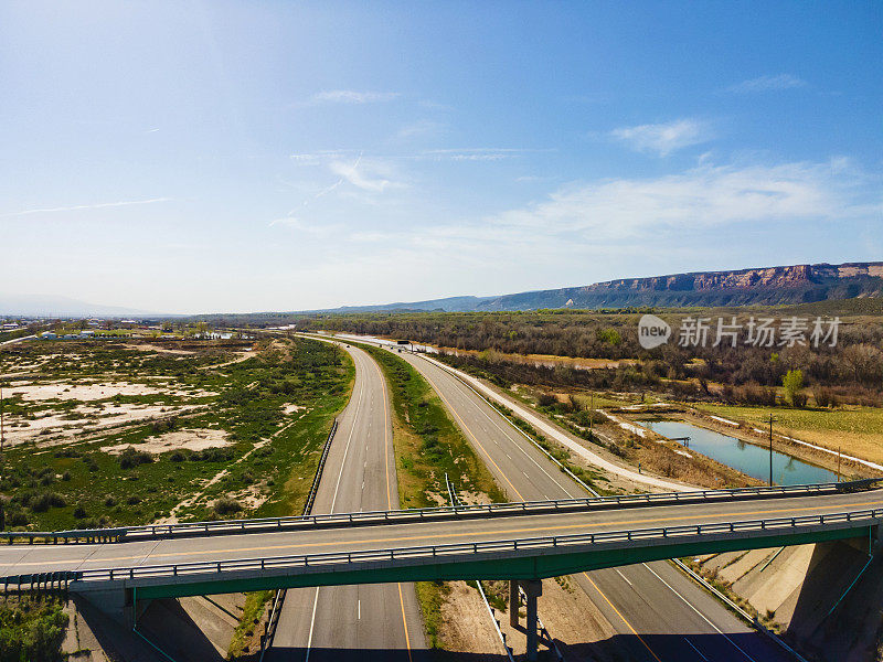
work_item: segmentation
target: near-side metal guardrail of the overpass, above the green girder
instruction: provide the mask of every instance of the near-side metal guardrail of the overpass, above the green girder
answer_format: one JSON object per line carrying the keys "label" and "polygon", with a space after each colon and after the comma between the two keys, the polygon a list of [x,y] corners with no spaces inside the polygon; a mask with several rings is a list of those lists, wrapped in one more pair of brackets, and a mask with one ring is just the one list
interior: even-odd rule
{"label": "near-side metal guardrail of the overpass, above the green girder", "polygon": [[[738,532],[775,531],[783,533],[798,527],[825,526],[832,524],[854,524],[857,526],[873,525],[883,519],[883,509],[849,511],[821,515],[800,515],[795,517],[774,517],[769,520],[745,520],[737,522],[717,522],[711,524],[682,524],[678,526],[659,526],[632,531],[609,531],[583,533],[561,536],[541,536],[508,541],[487,541],[474,543],[454,543],[447,545],[422,545],[416,547],[395,547],[387,549],[364,549],[357,552],[326,552],[319,554],[300,554],[291,556],[274,556],[264,558],[220,559],[191,562],[182,564],[163,564],[153,566],[62,570],[1,577],[4,588],[17,584],[19,587],[45,580],[50,575],[63,581],[117,581],[150,578],[181,578],[195,576],[194,580],[204,581],[212,575],[234,572],[262,572],[295,569],[325,572],[340,568],[342,565],[370,564],[404,559],[427,558],[430,560],[453,560],[458,556],[479,554],[517,553],[532,549],[549,554],[567,547],[611,545],[623,542],[661,542],[669,538],[735,534]],[[206,577],[209,575],[209,577]]]}

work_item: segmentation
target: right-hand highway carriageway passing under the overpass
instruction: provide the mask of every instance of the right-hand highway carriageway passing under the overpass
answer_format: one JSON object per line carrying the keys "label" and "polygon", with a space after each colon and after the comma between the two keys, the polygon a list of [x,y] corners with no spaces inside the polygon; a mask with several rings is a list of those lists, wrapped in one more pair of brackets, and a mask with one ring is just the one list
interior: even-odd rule
{"label": "right-hand highway carriageway passing under the overpass", "polygon": [[[584,495],[460,380],[421,355],[398,355],[432,384],[510,498]],[[790,659],[664,562],[582,573],[573,579],[619,632],[616,641],[602,644],[611,655],[642,662]]]}

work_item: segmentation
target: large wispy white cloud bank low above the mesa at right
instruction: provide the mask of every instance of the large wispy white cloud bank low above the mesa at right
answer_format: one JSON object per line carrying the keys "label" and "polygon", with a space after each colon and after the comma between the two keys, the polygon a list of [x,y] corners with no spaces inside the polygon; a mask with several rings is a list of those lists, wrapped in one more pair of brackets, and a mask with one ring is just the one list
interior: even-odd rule
{"label": "large wispy white cloud bank low above the mesa at right", "polygon": [[660,233],[744,222],[836,222],[881,207],[879,194],[862,202],[855,183],[830,163],[702,164],[661,178],[573,184],[490,222],[504,228],[501,236],[511,228],[533,228],[592,241],[650,241]]}

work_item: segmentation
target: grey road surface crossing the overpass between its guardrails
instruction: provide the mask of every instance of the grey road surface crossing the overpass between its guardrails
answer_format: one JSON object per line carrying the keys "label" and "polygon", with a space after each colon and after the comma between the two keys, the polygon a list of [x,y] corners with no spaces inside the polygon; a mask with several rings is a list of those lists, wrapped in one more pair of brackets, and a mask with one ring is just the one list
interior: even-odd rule
{"label": "grey road surface crossing the overpass between its guardrails", "polygon": [[[345,555],[360,551],[401,549],[462,543],[471,549],[475,543],[483,542],[525,541],[543,536],[583,534],[600,536],[610,532],[632,532],[634,534],[634,532],[650,528],[655,530],[653,535],[659,537],[661,536],[659,528],[663,526],[694,527],[698,524],[722,523],[725,525],[723,528],[728,531],[730,523],[743,521],[755,522],[752,530],[760,531],[759,523],[756,523],[758,520],[818,516],[843,512],[858,513],[870,509],[883,509],[883,490],[826,495],[734,499],[705,504],[647,504],[579,512],[522,515],[487,513],[462,520],[448,519],[331,527],[320,525],[297,531],[256,531],[244,534],[230,533],[105,544],[0,545],[0,578],[18,574],[58,570],[84,570],[86,573],[102,570],[106,575],[106,570],[109,568],[145,567],[147,569],[150,566],[196,562],[213,566],[219,560],[321,554]],[[747,528],[738,527],[734,535],[745,531]],[[772,532],[773,530],[767,527],[763,531]],[[635,537],[634,541],[624,543],[624,546],[639,546],[639,540]],[[525,548],[528,547],[525,546]],[[433,562],[430,553],[423,554],[428,556],[429,563]],[[312,562],[310,565],[313,565]],[[210,567],[209,572],[213,572],[213,568]],[[128,573],[118,575],[118,580],[125,580]],[[155,574],[155,576],[157,575]],[[397,590],[394,595],[396,597],[395,606],[398,607],[401,616]],[[310,611],[312,611],[312,602]],[[315,639],[316,632],[313,632]]]}

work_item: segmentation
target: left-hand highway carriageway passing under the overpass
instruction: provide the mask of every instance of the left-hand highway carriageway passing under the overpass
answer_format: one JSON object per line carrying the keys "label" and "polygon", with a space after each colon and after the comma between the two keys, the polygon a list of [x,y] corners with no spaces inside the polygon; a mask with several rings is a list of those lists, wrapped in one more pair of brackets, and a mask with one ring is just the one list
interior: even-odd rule
{"label": "left-hand highway carriageway passing under the overpass", "polygon": [[[331,444],[312,513],[398,508],[386,382],[371,356],[348,348],[355,383]],[[252,540],[242,541],[249,547]],[[425,649],[414,586],[382,584],[289,589],[270,662],[403,660]],[[371,654],[374,651],[374,654]]]}

